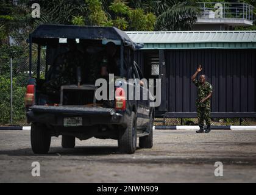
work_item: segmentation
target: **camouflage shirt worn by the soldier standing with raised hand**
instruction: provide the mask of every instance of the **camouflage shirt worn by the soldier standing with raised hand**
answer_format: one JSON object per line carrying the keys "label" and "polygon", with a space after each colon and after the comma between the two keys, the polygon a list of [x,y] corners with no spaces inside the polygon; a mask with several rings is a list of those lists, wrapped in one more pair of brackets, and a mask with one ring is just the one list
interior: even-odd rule
{"label": "camouflage shirt worn by the soldier standing with raised hand", "polygon": [[196,107],[210,107],[210,98],[206,101],[200,103],[200,101],[208,96],[209,93],[213,93],[213,87],[210,83],[205,82],[203,85],[198,81],[193,81],[194,85],[197,87],[197,99]]}

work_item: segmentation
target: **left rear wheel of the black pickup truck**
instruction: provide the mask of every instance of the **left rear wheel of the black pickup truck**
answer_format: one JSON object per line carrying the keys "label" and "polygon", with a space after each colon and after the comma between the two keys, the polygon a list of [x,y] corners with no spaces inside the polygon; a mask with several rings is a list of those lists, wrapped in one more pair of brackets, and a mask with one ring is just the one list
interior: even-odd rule
{"label": "left rear wheel of the black pickup truck", "polygon": [[47,154],[51,145],[51,133],[46,127],[32,122],[30,141],[35,154]]}

